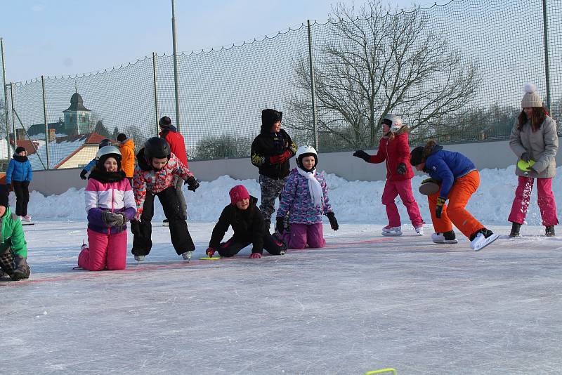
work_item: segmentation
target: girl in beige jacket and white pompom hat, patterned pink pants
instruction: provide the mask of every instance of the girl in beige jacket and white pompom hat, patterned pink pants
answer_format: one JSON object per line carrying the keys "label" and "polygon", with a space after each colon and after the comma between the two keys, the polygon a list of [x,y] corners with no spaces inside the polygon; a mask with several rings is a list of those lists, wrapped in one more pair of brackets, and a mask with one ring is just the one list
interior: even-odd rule
{"label": "girl in beige jacket and white pompom hat, patterned pink pants", "polygon": [[542,99],[536,90],[535,85],[525,85],[525,96],[521,100],[523,110],[509,137],[509,147],[518,159],[524,162],[530,160],[535,162],[528,170],[524,171],[518,167],[515,169],[518,186],[508,218],[512,223],[509,237],[520,235],[521,224],[525,221],[529,208],[535,178],[537,180],[537,203],[542,225],[545,227],[545,235],[554,236],[554,225],[558,224],[556,202],[552,194],[552,178],[556,175],[555,157],[558,151],[556,122],[547,115],[542,106]]}

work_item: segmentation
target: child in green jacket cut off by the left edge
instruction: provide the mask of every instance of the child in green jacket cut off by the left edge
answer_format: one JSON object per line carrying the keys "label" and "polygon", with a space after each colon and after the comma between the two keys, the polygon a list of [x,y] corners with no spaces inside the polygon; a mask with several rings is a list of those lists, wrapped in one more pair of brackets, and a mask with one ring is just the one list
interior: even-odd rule
{"label": "child in green jacket cut off by the left edge", "polygon": [[0,277],[5,273],[13,280],[30,277],[27,265],[27,242],[22,230],[22,222],[8,206],[8,188],[0,185]]}

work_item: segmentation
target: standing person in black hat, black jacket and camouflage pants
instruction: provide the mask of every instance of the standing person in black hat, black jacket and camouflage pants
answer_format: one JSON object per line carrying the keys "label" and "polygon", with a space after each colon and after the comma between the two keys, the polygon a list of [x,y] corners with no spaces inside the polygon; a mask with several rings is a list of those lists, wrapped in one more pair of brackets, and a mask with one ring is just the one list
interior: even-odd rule
{"label": "standing person in black hat, black jacket and camouflage pants", "polygon": [[289,159],[296,154],[296,144],[281,129],[283,112],[261,111],[261,131],[251,143],[251,164],[259,168],[261,205],[266,231],[269,232],[271,215],[275,211],[275,198],[280,198],[289,176]]}

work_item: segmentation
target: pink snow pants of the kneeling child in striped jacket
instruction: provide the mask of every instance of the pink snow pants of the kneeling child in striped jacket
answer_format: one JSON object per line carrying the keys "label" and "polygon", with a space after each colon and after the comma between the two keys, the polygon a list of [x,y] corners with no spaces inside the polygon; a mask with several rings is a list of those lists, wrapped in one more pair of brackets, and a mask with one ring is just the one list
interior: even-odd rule
{"label": "pink snow pants of the kneeling child in striped jacket", "polygon": [[108,235],[88,230],[88,244],[80,251],[78,266],[89,271],[124,270],[127,257],[127,231]]}

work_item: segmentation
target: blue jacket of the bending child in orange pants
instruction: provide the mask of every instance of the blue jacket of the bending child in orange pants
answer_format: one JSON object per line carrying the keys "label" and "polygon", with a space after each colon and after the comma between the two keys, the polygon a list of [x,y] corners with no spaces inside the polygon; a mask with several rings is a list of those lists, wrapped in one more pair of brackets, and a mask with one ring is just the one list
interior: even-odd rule
{"label": "blue jacket of the bending child in orange pants", "polygon": [[429,173],[433,180],[441,182],[439,196],[445,199],[449,195],[455,180],[466,176],[471,171],[476,171],[476,166],[468,157],[459,152],[443,150],[443,147],[440,145],[433,146],[424,167],[425,173]]}

